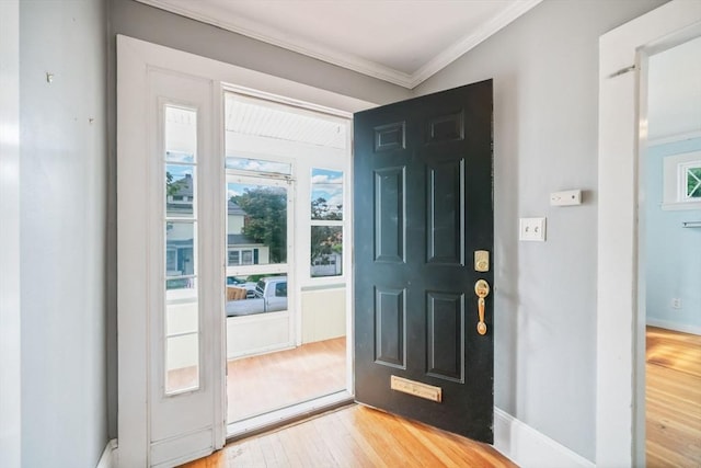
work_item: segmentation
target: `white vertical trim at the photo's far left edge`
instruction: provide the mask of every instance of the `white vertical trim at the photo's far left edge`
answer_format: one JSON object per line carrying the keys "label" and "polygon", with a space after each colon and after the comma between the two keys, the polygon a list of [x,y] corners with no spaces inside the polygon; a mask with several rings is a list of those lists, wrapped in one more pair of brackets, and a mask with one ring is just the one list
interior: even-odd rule
{"label": "white vertical trim at the photo's far left edge", "polygon": [[0,1],[0,454],[21,466],[20,2]]}

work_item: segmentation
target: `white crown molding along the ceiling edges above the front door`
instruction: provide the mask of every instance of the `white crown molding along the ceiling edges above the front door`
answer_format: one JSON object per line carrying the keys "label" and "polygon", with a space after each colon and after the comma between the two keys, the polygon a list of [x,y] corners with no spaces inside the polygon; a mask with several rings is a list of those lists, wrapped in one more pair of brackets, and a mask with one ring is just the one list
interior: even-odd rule
{"label": "white crown molding along the ceiling edges above the front door", "polygon": [[[327,64],[332,64],[348,70],[356,71],[379,80],[383,80],[393,84],[406,89],[414,89],[452,61],[464,55],[467,52],[482,43],[484,39],[502,30],[504,26],[526,13],[542,0],[522,0],[516,1],[510,8],[502,12],[496,18],[485,23],[482,27],[479,27],[475,32],[463,36],[453,45],[436,56],[428,64],[421,67],[414,73],[405,73],[393,68],[383,66],[381,64],[366,60],[364,58],[343,54],[337,50],[324,47],[323,45],[313,44],[307,41],[291,39],[284,35],[276,34],[274,30],[262,27],[262,25],[254,21],[244,19],[237,19],[235,21],[227,21],[220,18],[214,18],[208,14],[204,14],[199,11],[195,11],[191,8],[183,5],[182,3],[173,4],[168,0],[137,0],[140,3],[145,3],[161,10],[170,11],[171,13],[180,14],[203,23],[211,24],[217,27],[221,27],[227,31],[231,31],[237,34],[241,34],[246,37],[251,37],[256,41],[264,42],[277,47],[281,47],[298,54],[312,57]],[[197,4],[196,2],[188,3],[191,5]]]}

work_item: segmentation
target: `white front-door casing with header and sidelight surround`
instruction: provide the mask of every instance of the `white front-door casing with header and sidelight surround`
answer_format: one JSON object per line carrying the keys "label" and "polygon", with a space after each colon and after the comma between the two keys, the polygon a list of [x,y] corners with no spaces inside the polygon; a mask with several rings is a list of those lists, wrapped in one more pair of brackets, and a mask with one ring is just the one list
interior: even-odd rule
{"label": "white front-door casing with header and sidelight surround", "polygon": [[[162,80],[161,84],[165,87],[174,87],[172,95],[162,95],[158,87],[153,88],[154,78]],[[180,85],[173,84],[179,81]],[[184,84],[185,81],[188,84]],[[375,105],[230,64],[117,36],[119,466],[149,466],[161,461],[173,465],[205,455],[225,441],[225,285],[220,279],[225,277],[226,236],[223,220],[216,214],[223,213],[221,194],[226,183],[223,164],[219,160],[219,157],[223,158],[222,93],[225,88],[232,85],[281,102],[311,103],[309,109],[331,111],[331,114],[335,111],[353,113]],[[170,102],[169,99],[176,105],[197,109],[198,119],[202,116],[200,123],[207,127],[198,130],[198,153],[211,155],[211,158],[202,159],[203,164],[198,164],[197,170],[207,181],[216,181],[217,186],[208,187],[215,198],[207,198],[208,194],[200,191],[198,222],[215,230],[219,239],[207,248],[199,247],[204,265],[200,265],[199,274],[199,282],[204,284],[199,289],[200,343],[206,352],[206,355],[200,354],[199,362],[203,365],[200,383],[207,397],[191,399],[194,407],[181,415],[173,414],[179,411],[177,404],[161,404],[162,392],[156,387],[162,380],[162,370],[158,367],[159,358],[150,358],[151,354],[157,355],[154,349],[162,350],[157,341],[163,336],[160,331],[163,318],[157,315],[149,320],[145,313],[145,310],[162,311],[159,303],[163,292],[159,286],[161,281],[147,272],[149,264],[157,269],[163,265],[163,217],[162,214],[153,217],[150,213],[153,209],[162,212],[162,207],[154,208],[159,203],[150,198],[163,196],[163,160],[158,153],[160,137],[156,132],[159,129],[156,110],[158,102],[163,105]],[[208,164],[205,161],[217,162]],[[182,397],[192,396],[184,393]],[[202,409],[210,421],[206,422],[207,418],[199,418],[199,414],[194,415],[196,409]],[[157,424],[181,426],[161,433]],[[154,427],[158,431],[153,431]],[[153,435],[164,438],[157,441]],[[182,452],[183,446],[189,447],[184,450],[189,450],[189,455],[177,458],[177,450]]]}

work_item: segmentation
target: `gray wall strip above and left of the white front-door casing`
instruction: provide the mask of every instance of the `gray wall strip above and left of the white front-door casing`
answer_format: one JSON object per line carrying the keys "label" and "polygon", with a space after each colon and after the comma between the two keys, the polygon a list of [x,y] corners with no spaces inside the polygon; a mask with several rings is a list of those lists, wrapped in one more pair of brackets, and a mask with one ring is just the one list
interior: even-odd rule
{"label": "gray wall strip above and left of the white front-door casing", "polygon": [[[1,1],[1,0],[0,0]],[[297,53],[261,43],[133,0],[110,0],[107,179],[107,389],[110,435],[117,436],[116,339],[116,34],[377,103],[411,98],[411,91]]]}

